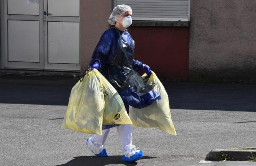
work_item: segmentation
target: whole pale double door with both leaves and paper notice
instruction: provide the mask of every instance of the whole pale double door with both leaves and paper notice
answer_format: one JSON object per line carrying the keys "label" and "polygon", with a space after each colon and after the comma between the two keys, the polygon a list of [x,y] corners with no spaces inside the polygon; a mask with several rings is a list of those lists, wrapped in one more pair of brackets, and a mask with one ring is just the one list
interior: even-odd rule
{"label": "whole pale double door with both leaves and paper notice", "polygon": [[4,68],[80,70],[79,0],[1,3]]}

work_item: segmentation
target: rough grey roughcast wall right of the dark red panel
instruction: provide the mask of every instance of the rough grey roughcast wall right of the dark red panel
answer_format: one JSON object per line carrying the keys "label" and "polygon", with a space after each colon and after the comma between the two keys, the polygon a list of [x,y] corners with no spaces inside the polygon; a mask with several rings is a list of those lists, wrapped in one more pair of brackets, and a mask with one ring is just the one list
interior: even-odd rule
{"label": "rough grey roughcast wall right of the dark red panel", "polygon": [[189,77],[256,80],[255,16],[255,0],[191,0]]}

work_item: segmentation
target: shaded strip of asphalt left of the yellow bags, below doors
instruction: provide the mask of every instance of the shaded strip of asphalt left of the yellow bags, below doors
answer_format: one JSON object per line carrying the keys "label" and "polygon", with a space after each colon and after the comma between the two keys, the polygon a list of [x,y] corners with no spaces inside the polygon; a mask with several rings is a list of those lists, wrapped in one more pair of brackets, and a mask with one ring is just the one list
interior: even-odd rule
{"label": "shaded strip of asphalt left of the yellow bags, below doors", "polygon": [[73,76],[1,76],[0,103],[68,105],[78,80]]}

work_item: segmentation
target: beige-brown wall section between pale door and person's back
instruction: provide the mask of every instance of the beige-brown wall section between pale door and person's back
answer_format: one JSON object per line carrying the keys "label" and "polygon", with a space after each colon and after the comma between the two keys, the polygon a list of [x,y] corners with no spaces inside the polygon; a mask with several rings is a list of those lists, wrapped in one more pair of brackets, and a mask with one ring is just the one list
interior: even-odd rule
{"label": "beige-brown wall section between pale door and person's back", "polygon": [[111,0],[80,0],[80,60],[81,72],[87,66],[100,36],[109,28]]}

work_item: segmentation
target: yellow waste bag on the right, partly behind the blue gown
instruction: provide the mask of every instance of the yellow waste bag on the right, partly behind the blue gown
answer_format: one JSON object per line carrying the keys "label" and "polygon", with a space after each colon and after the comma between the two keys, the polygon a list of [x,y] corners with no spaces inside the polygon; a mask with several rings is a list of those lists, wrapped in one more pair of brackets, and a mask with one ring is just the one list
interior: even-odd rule
{"label": "yellow waste bag on the right, partly behind the blue gown", "polygon": [[[147,74],[142,76],[143,79]],[[154,91],[161,95],[152,105],[142,109],[130,107],[129,116],[133,127],[150,127],[161,129],[171,135],[177,135],[171,119],[168,94],[156,74],[152,71],[147,83],[156,83]]]}

